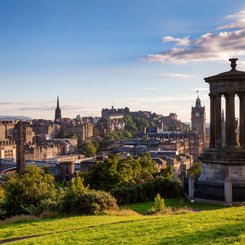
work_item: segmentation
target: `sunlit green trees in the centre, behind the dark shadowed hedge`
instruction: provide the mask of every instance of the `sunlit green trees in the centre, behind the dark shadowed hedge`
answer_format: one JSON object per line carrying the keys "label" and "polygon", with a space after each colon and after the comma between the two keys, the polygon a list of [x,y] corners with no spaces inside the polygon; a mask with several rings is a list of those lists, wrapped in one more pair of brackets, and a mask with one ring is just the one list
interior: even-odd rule
{"label": "sunlit green trees in the centre, behind the dark shadowed hedge", "polygon": [[153,179],[154,173],[155,162],[149,154],[142,154],[137,159],[119,159],[117,155],[110,155],[104,162],[93,166],[87,181],[92,188],[108,191],[120,185]]}

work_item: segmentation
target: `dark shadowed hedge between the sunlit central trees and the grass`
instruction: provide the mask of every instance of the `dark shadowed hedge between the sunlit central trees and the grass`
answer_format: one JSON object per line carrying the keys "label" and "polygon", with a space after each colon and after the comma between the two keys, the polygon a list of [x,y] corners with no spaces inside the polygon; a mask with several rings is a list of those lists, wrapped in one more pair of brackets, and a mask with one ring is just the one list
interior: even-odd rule
{"label": "dark shadowed hedge between the sunlit central trees and the grass", "polygon": [[180,191],[179,183],[159,177],[134,186],[117,187],[110,193],[117,199],[118,205],[124,205],[153,200],[158,193],[164,197],[178,197]]}

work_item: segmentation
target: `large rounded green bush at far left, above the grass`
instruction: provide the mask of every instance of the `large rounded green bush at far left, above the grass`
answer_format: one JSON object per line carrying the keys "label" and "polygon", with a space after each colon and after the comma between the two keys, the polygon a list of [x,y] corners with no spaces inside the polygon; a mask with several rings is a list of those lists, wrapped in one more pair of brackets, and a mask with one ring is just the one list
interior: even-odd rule
{"label": "large rounded green bush at far left, above the grass", "polygon": [[39,214],[55,206],[57,201],[53,176],[35,166],[12,175],[5,184],[4,193],[2,209],[7,216]]}

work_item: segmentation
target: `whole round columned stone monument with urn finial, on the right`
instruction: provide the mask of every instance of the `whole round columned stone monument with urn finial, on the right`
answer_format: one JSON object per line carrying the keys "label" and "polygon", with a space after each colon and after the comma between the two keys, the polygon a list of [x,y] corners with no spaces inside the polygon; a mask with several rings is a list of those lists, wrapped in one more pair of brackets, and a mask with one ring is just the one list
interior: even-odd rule
{"label": "whole round columned stone monument with urn finial, on the right", "polygon": [[[245,201],[245,72],[236,69],[237,60],[229,60],[230,71],[204,79],[210,86],[210,144],[199,157],[201,176],[193,184],[195,198],[227,205]],[[236,96],[239,120],[235,118]]]}

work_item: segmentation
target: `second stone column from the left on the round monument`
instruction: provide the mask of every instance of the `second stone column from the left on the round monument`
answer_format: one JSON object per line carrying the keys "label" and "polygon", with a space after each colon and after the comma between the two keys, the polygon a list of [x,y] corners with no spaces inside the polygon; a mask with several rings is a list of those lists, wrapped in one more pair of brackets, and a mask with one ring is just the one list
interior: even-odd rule
{"label": "second stone column from the left on the round monument", "polygon": [[215,95],[215,146],[222,146],[221,95]]}

